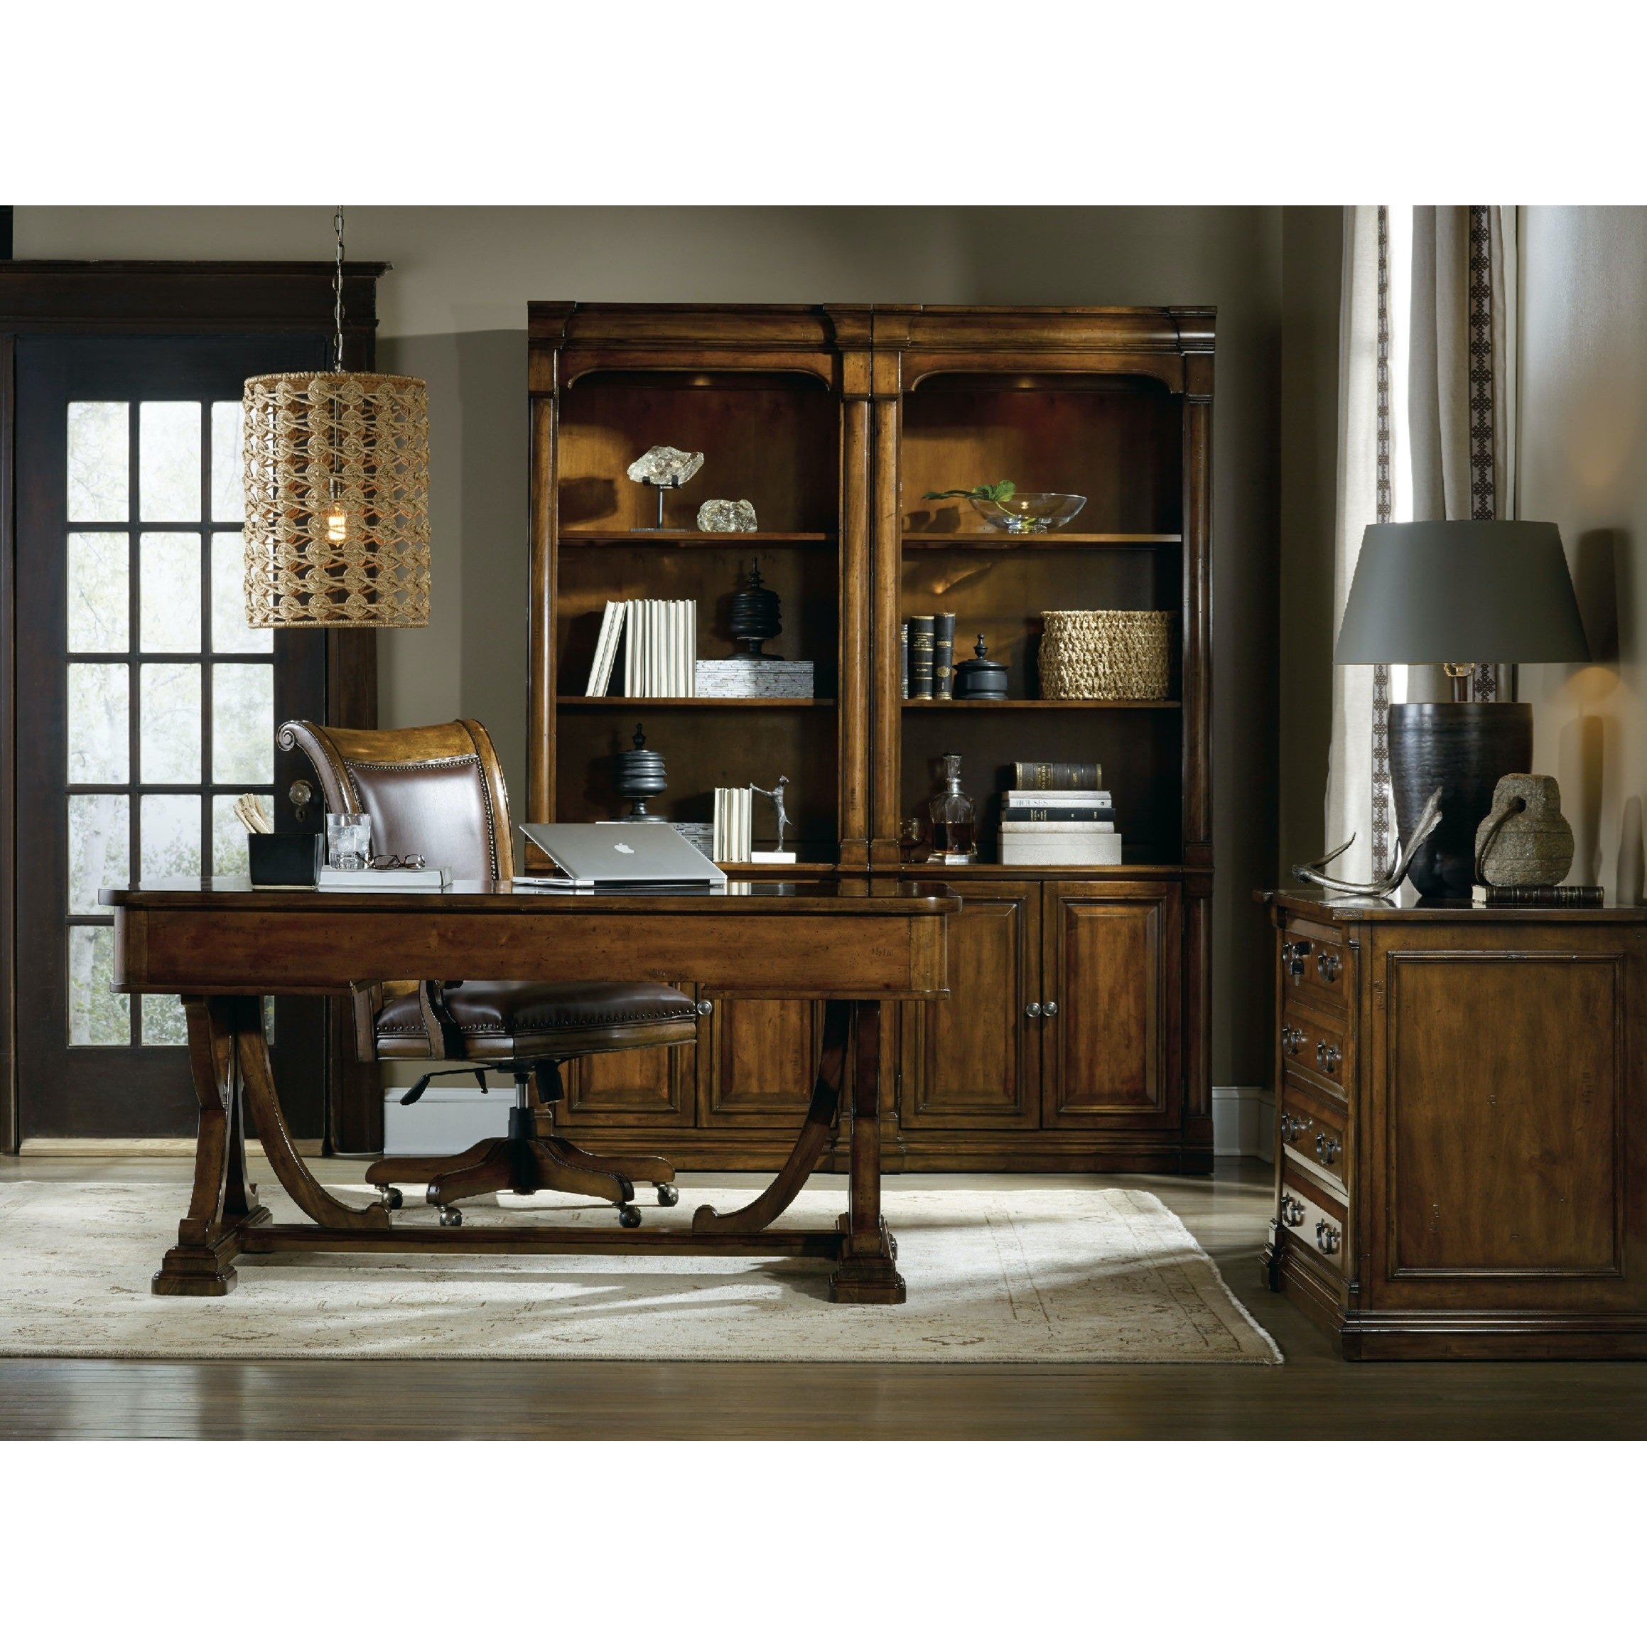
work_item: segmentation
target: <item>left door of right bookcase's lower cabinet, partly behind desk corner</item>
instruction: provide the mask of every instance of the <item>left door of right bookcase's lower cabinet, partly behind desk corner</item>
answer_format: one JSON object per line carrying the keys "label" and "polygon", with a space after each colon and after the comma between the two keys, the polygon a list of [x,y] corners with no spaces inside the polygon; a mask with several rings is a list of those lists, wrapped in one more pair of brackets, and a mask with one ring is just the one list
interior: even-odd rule
{"label": "left door of right bookcase's lower cabinet, partly behind desk corner", "polygon": [[921,1127],[1034,1127],[1039,1033],[1041,888],[967,888],[949,922],[949,1000],[901,1015],[899,1122]]}

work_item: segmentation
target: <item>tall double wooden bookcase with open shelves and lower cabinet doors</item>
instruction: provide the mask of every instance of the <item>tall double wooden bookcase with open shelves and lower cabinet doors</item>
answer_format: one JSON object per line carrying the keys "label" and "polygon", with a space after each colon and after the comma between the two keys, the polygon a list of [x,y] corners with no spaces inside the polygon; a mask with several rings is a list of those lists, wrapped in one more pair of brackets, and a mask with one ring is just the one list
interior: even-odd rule
{"label": "tall double wooden bookcase with open shelves and lower cabinet doors", "polygon": [[[888,1038],[889,1168],[1211,1169],[1212,343],[1212,311],[1181,308],[530,306],[529,815],[616,815],[611,756],[642,721],[662,815],[707,822],[716,786],[789,776],[802,861],[764,873],[955,884],[952,996]],[[662,532],[624,474],[659,443],[707,453]],[[1001,478],[1087,506],[1018,539],[921,501]],[[761,530],[697,532],[705,497],[748,497]],[[782,598],[769,651],[815,664],[815,698],[583,695],[608,600],[695,598],[698,656],[728,656],[756,555]],[[1041,611],[1089,606],[1179,614],[1166,700],[1036,695]],[[903,702],[899,623],[934,609],[957,614],[957,659],[983,631],[1006,702]],[[899,820],[945,751],[985,861],[916,870]],[[1103,764],[1122,866],[993,861],[996,796],[1026,759]],[[817,1033],[807,1003],[716,1001],[695,1051],[573,1071],[572,1133],[776,1166]]]}

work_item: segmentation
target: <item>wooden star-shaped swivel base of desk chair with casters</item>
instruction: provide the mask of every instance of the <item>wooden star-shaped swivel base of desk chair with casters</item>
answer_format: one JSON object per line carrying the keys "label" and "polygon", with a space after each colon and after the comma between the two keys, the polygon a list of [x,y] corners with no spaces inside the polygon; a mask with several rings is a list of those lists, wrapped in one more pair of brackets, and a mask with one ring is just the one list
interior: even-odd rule
{"label": "wooden star-shaped swivel base of desk chair with casters", "polygon": [[618,1222],[634,1229],[641,1222],[634,1201],[634,1179],[657,1186],[659,1206],[672,1207],[680,1199],[672,1179],[674,1166],[662,1156],[590,1155],[565,1138],[537,1135],[537,1117],[530,1108],[509,1113],[507,1138],[483,1138],[463,1155],[385,1156],[366,1169],[366,1183],[382,1191],[384,1204],[400,1206],[394,1181],[428,1184],[425,1199],[440,1207],[440,1222],[458,1225],[463,1214],[455,1202],[473,1196],[512,1192],[530,1196],[555,1189],[568,1196],[609,1201],[618,1209]]}

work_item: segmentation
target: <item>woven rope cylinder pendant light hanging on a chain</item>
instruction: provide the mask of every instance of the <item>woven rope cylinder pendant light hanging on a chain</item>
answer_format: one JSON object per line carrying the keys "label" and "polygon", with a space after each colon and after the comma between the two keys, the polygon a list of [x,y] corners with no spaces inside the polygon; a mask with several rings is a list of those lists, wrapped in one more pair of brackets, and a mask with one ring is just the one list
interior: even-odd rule
{"label": "woven rope cylinder pendant light hanging on a chain", "polygon": [[343,209],[329,372],[249,377],[245,621],[254,629],[428,623],[428,390],[343,369]]}

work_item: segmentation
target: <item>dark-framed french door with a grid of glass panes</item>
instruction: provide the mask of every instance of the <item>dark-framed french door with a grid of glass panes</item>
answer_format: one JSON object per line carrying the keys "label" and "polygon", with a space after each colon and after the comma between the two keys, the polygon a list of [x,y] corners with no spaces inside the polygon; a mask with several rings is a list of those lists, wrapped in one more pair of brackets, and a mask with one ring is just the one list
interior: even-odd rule
{"label": "dark-framed french door with a grid of glass panes", "polygon": [[[25,1138],[194,1131],[181,1003],[110,990],[100,886],[245,870],[234,800],[277,827],[303,776],[275,726],[324,720],[321,632],[249,629],[240,387],[315,339],[20,338],[16,1052]],[[321,1001],[272,1005],[277,1074],[318,1136]]]}

